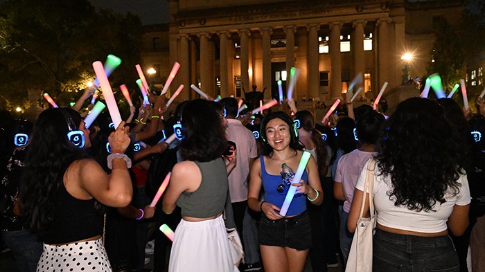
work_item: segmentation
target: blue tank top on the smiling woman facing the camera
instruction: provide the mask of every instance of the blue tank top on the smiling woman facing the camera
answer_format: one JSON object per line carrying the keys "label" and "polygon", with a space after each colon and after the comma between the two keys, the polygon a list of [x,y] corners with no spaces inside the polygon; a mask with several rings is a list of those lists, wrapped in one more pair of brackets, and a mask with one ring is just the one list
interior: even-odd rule
{"label": "blue tank top on the smiling woman facing the camera", "polygon": [[[281,179],[281,175],[274,175],[268,174],[265,168],[265,160],[263,156],[260,156],[261,160],[261,179],[263,181],[263,188],[265,189],[265,201],[267,203],[272,203],[279,208],[283,206],[283,201],[285,201],[286,194],[288,193],[288,189],[290,187],[285,185],[285,189],[283,192],[278,192],[276,188],[278,185],[281,184],[283,179]],[[308,173],[303,171],[303,175],[301,179],[308,183]],[[306,210],[306,195],[305,194],[295,194],[293,200],[291,201],[290,208],[288,208],[288,212],[286,212],[286,216],[294,216],[299,215],[301,212]]]}

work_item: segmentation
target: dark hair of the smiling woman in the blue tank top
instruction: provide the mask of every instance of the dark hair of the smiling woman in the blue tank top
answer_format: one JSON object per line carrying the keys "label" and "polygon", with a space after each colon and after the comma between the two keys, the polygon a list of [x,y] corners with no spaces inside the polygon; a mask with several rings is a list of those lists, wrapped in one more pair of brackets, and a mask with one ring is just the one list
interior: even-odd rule
{"label": "dark hair of the smiling woman in the blue tank top", "polygon": [[[260,128],[261,138],[266,139],[266,125],[267,123],[270,123],[271,120],[276,118],[283,120],[290,127],[290,137],[291,137],[290,148],[293,149],[295,152],[297,150],[303,150],[304,148],[303,145],[299,142],[298,136],[295,135],[295,133],[293,132],[293,129],[294,129],[293,120],[284,111],[274,111],[268,114],[267,116],[265,116],[265,118],[263,119],[263,122],[261,122],[261,128]],[[271,145],[267,143],[267,140],[263,140],[263,152],[262,152],[263,156],[271,157],[272,152],[273,152],[273,147],[271,147]]]}

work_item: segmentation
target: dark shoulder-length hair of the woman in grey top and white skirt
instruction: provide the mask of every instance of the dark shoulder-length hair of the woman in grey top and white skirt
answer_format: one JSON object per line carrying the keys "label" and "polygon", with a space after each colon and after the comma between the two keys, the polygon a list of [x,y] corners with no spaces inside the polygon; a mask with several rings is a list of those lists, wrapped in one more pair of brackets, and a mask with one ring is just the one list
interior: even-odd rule
{"label": "dark shoulder-length hair of the woman in grey top and white skirt", "polygon": [[227,140],[221,116],[215,111],[213,103],[196,99],[188,102],[182,110],[184,140],[179,145],[182,158],[189,161],[213,161],[226,149]]}

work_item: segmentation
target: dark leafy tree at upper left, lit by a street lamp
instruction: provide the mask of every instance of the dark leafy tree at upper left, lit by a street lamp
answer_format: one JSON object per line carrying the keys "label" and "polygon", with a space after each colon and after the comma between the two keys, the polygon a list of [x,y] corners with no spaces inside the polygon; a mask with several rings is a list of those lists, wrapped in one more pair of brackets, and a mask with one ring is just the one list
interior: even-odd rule
{"label": "dark leafy tree at upper left, lit by a street lamp", "polygon": [[21,105],[27,89],[44,89],[67,105],[94,80],[92,62],[110,53],[123,60],[112,84],[134,82],[142,31],[135,15],[97,12],[88,0],[6,0],[0,7],[0,93]]}

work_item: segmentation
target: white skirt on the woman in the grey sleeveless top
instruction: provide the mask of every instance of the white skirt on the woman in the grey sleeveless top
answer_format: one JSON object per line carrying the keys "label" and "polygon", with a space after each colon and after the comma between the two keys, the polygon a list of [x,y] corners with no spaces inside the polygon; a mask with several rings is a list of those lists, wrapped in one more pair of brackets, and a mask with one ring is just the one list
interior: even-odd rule
{"label": "white skirt on the woman in the grey sleeveless top", "polygon": [[182,219],[173,239],[168,272],[238,271],[231,257],[222,215],[190,222]]}

